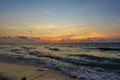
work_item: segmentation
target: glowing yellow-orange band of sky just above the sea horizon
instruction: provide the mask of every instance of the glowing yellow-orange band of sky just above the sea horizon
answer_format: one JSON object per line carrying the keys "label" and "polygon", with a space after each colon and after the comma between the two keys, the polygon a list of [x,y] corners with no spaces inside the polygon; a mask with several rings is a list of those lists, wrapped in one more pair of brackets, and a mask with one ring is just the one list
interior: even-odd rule
{"label": "glowing yellow-orange band of sky just above the sea horizon", "polygon": [[[61,27],[62,26],[62,27]],[[96,28],[89,25],[61,25],[61,24],[42,24],[30,26],[2,26],[0,27],[1,42],[84,42],[84,41],[105,41],[118,39],[119,32],[108,32],[107,27]],[[104,31],[103,31],[104,29]],[[2,37],[11,37],[2,40]],[[27,37],[25,39],[18,36]],[[17,39],[19,38],[19,39]],[[29,39],[28,39],[29,38]],[[28,41],[29,42],[29,41]]]}

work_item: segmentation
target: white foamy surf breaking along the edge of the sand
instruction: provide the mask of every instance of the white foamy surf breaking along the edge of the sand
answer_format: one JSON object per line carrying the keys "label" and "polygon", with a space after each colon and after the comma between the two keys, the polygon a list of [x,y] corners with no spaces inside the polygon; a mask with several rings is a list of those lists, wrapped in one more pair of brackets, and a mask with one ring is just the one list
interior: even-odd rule
{"label": "white foamy surf breaking along the edge of the sand", "polygon": [[[35,53],[35,52],[33,52]],[[40,53],[42,56],[39,58],[26,58],[19,56],[19,59],[32,61],[34,63],[41,63],[45,67],[55,70],[60,70],[70,76],[86,79],[86,80],[119,80],[120,77],[117,73],[107,71],[102,68],[93,68],[82,65],[75,65],[69,63],[68,60],[58,57],[46,56]],[[40,56],[40,55],[39,55]],[[51,57],[51,58],[50,58]],[[67,62],[66,62],[67,61]]]}

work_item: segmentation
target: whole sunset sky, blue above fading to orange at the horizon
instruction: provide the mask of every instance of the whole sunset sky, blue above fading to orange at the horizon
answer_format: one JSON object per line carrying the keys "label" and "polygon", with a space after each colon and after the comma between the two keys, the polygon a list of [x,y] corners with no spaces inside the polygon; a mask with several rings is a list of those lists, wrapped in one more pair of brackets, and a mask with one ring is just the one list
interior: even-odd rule
{"label": "whole sunset sky, blue above fading to orange at the horizon", "polygon": [[120,0],[0,0],[0,43],[120,42]]}

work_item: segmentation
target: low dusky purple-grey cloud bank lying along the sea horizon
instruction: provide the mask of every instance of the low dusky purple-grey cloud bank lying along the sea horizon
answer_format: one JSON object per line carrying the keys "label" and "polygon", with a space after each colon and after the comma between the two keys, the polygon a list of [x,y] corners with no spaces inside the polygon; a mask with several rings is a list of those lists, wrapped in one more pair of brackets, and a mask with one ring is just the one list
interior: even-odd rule
{"label": "low dusky purple-grey cloud bank lying along the sea horizon", "polygon": [[[100,37],[88,37],[86,39],[72,39],[73,35],[68,37],[62,37],[60,42],[65,43],[76,43],[76,42],[120,42],[120,38],[100,38]],[[40,38],[40,37],[28,37],[28,36],[7,36],[0,37],[0,43],[36,43],[36,42],[54,42],[54,40],[49,38]]]}

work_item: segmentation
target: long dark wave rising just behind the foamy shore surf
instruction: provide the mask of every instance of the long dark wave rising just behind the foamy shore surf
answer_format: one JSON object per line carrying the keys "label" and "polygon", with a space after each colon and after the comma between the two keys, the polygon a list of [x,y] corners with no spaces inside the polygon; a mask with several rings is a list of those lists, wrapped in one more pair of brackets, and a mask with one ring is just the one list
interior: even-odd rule
{"label": "long dark wave rising just behind the foamy shore surf", "polygon": [[[18,52],[16,53],[18,54]],[[39,51],[28,51],[28,55],[36,56],[39,58],[44,57],[54,60],[60,60],[63,62],[74,64],[76,66],[82,65],[89,67],[101,67],[104,69],[115,69],[115,70],[120,69],[119,67],[120,59],[115,59],[115,58],[96,57],[96,56],[84,55],[84,54],[70,54],[68,56],[63,57],[63,56],[51,55]],[[80,59],[71,58],[71,56],[80,57]]]}

